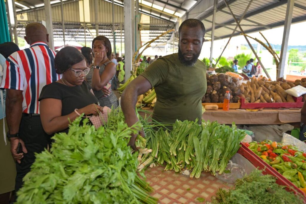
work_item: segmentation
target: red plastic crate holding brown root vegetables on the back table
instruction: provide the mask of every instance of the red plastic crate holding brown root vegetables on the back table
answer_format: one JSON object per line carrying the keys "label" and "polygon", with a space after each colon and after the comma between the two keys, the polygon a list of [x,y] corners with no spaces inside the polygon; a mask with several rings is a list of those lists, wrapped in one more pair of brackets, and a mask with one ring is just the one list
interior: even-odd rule
{"label": "red plastic crate holding brown root vegetables on the back table", "polygon": [[295,98],[294,103],[245,103],[245,98],[240,98],[242,109],[255,108],[301,108],[303,107],[302,97]]}

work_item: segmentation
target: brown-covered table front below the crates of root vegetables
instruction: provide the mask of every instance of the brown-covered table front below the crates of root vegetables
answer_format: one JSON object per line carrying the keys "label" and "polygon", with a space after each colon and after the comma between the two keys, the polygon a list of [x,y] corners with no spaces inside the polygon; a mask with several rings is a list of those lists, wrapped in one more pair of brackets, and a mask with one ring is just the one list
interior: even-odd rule
{"label": "brown-covered table front below the crates of root vegetables", "polygon": [[[153,111],[152,108],[143,108]],[[229,111],[206,110],[202,115],[205,121],[218,121],[220,124],[285,124],[299,123],[300,109],[263,109],[262,111],[248,111],[244,109],[230,109]]]}

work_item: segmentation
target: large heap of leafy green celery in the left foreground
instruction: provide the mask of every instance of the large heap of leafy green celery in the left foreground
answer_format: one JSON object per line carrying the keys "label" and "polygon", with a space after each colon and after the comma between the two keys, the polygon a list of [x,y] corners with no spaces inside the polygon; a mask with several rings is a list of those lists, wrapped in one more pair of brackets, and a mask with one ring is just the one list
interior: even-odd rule
{"label": "large heap of leafy green celery in the left foreground", "polygon": [[77,118],[68,134],[54,135],[50,152],[36,154],[17,203],[157,203],[136,174],[137,156],[127,146],[139,128],[122,120],[98,130],[79,123]]}

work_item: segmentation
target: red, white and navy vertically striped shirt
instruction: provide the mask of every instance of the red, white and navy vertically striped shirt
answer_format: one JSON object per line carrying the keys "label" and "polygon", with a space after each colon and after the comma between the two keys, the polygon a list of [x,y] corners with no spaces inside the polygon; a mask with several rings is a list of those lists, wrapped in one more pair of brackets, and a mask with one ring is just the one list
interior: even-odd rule
{"label": "red, white and navy vertically striped shirt", "polygon": [[55,52],[46,43],[36,42],[6,59],[0,88],[23,91],[23,113],[39,114],[42,88],[60,79],[55,72],[54,57]]}

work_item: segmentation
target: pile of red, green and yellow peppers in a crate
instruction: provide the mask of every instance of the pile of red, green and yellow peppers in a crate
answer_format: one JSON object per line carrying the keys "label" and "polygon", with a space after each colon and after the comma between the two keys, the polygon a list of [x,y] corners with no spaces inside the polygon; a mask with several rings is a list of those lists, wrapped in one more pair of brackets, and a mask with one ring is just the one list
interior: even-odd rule
{"label": "pile of red, green and yellow peppers in a crate", "polygon": [[263,140],[243,143],[306,194],[306,153],[293,145]]}

